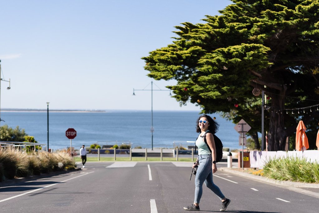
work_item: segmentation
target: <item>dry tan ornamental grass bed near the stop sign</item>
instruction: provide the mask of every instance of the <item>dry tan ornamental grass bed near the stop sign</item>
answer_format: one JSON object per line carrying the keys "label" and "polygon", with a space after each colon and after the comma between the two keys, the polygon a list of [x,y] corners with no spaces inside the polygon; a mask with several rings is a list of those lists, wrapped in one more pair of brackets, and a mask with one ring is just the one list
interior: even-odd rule
{"label": "dry tan ornamental grass bed near the stop sign", "polygon": [[26,153],[14,147],[0,148],[0,182],[75,168],[75,160],[66,151]]}

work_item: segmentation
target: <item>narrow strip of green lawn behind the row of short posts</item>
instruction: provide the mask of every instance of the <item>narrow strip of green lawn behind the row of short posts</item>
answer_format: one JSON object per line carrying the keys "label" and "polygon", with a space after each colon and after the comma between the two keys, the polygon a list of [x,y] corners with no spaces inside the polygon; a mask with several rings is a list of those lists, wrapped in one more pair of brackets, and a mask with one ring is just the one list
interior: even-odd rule
{"label": "narrow strip of green lawn behind the row of short posts", "polygon": [[[74,157],[76,162],[82,162],[80,157]],[[194,161],[196,158],[194,159]],[[96,162],[98,161],[97,157],[86,157],[86,162]],[[100,157],[101,162],[114,161],[114,157]],[[116,157],[116,161],[130,161],[130,157]],[[160,161],[160,157],[132,157],[132,161]],[[176,157],[163,157],[163,161],[176,161]],[[191,157],[179,157],[178,161],[181,162],[192,162]]]}

